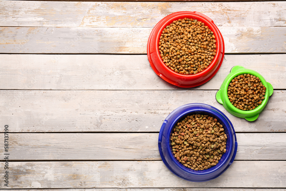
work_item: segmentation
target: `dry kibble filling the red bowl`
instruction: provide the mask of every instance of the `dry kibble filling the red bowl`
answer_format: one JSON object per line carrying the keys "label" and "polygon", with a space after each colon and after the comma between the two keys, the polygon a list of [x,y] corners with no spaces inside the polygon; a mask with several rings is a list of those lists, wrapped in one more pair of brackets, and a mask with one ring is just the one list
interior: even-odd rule
{"label": "dry kibble filling the red bowl", "polygon": [[180,74],[196,74],[206,69],[216,55],[213,32],[196,19],[178,19],[166,26],[159,41],[163,62]]}

